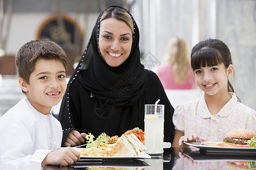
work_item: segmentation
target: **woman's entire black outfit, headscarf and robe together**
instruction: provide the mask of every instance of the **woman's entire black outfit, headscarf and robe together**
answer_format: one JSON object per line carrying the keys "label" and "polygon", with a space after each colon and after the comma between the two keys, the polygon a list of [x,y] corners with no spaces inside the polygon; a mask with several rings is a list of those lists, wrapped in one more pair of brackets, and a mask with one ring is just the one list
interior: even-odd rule
{"label": "woman's entire black outfit, headscarf and robe together", "polygon": [[[130,55],[117,67],[105,62],[98,47],[100,18],[105,10],[98,16],[90,41],[68,82],[59,114],[64,131],[63,142],[74,128],[96,137],[102,132],[120,136],[135,127],[144,129],[144,104],[154,104],[162,95],[165,97],[162,104],[170,105],[157,76],[145,70],[140,62],[139,29],[127,10],[134,23]],[[152,86],[148,84],[151,82],[154,82]],[[152,94],[148,96],[147,91]],[[171,105],[170,108],[173,113]]]}

